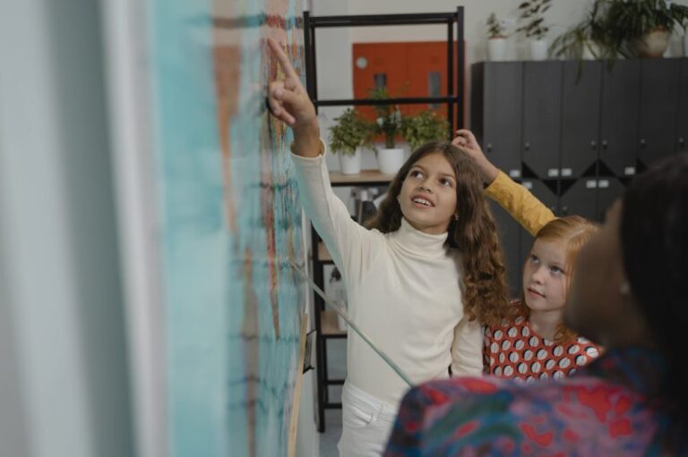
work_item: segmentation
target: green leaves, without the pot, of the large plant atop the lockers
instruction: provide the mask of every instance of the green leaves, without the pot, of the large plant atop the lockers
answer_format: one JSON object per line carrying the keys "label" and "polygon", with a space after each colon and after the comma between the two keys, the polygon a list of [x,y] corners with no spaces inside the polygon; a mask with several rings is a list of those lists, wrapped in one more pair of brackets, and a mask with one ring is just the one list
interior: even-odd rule
{"label": "green leaves, without the pot, of the large plant atop the lockers", "polygon": [[607,58],[633,57],[634,44],[649,32],[688,25],[688,6],[665,0],[596,0],[598,29],[593,38]]}

